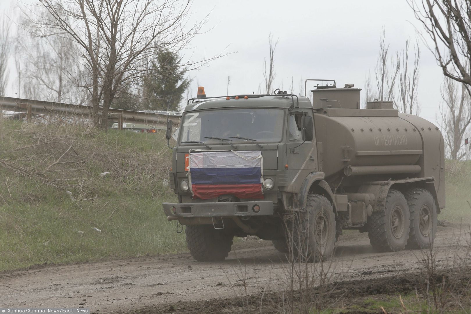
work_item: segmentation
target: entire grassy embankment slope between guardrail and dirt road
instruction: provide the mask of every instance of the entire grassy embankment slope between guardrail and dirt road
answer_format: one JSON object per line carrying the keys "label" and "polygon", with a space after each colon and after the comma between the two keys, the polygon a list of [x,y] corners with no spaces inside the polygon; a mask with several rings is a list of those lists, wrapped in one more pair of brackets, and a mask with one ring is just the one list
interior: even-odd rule
{"label": "entire grassy embankment slope between guardrail and dirt road", "polygon": [[[59,143],[11,151],[44,138]],[[162,183],[171,150],[161,135],[0,121],[0,143],[0,160],[28,170],[48,170],[69,143],[76,152],[37,180],[0,163],[0,271],[187,250],[162,210],[162,202],[177,198]],[[100,178],[105,171],[110,174]],[[70,186],[50,186],[43,178]]]}

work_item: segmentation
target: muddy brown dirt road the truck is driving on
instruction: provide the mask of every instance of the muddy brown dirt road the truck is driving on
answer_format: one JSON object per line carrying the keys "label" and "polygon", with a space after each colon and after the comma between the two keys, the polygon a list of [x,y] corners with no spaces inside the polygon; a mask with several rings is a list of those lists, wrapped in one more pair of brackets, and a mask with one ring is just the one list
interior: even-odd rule
{"label": "muddy brown dirt road the truck is driving on", "polygon": [[[435,249],[445,264],[455,227],[439,227]],[[375,253],[366,233],[341,236],[333,258],[343,280],[401,274],[421,267],[420,250]],[[167,302],[233,297],[279,290],[288,264],[271,242],[237,242],[225,262],[198,263],[189,254],[140,257],[98,263],[47,266],[0,273],[2,306],[89,307],[99,313]]]}

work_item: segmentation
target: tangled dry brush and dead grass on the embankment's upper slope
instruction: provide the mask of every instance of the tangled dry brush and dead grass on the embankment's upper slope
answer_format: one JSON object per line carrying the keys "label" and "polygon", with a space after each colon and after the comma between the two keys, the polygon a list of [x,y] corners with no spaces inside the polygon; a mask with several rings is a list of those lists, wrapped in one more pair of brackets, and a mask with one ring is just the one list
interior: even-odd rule
{"label": "tangled dry brush and dead grass on the embankment's upper slope", "polygon": [[0,170],[70,191],[75,198],[126,191],[158,193],[171,163],[163,134],[103,132],[77,118],[2,120],[0,139]]}

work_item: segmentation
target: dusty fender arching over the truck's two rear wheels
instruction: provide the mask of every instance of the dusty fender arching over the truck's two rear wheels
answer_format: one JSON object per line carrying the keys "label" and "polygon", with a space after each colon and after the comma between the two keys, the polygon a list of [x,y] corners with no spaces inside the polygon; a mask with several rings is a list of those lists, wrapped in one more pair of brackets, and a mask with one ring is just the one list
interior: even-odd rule
{"label": "dusty fender arching over the truck's two rear wheels", "polygon": [[360,186],[358,193],[373,193],[376,196],[376,202],[373,206],[373,211],[384,211],[386,196],[388,195],[390,188],[393,185],[396,185],[394,188],[402,191],[404,190],[404,187],[410,183],[414,183],[414,186],[420,186],[430,191],[435,201],[437,202],[437,209],[439,210],[440,207],[437,199],[437,192],[435,191],[433,185],[433,177],[369,182],[368,185]]}

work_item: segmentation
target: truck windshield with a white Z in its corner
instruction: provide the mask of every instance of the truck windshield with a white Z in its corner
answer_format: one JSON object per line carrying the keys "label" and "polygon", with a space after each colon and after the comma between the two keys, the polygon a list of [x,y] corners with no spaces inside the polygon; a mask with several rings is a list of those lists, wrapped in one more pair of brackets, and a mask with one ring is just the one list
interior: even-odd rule
{"label": "truck windshield with a white Z in its corner", "polygon": [[220,139],[230,140],[231,143],[250,140],[280,142],[283,135],[283,120],[284,111],[272,108],[190,112],[183,117],[180,143],[197,141],[216,144],[223,142]]}

